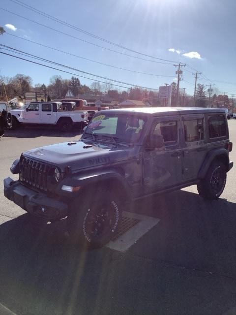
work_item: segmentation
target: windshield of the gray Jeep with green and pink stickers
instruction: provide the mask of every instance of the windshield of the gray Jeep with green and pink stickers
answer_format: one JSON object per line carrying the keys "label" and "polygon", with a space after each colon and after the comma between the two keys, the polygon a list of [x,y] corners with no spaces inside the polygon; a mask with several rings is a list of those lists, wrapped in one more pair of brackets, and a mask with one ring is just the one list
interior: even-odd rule
{"label": "windshield of the gray Jeep with green and pink stickers", "polygon": [[139,141],[146,119],[141,116],[124,115],[124,114],[102,114],[95,116],[83,137],[97,136],[110,136],[121,142],[136,143]]}

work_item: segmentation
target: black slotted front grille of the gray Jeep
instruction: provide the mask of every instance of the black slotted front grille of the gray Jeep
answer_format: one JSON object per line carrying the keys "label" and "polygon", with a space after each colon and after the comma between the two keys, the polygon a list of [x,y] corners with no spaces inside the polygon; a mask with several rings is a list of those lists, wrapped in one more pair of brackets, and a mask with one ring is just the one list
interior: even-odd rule
{"label": "black slotted front grille of the gray Jeep", "polygon": [[20,159],[20,181],[25,186],[47,191],[50,166],[30,158]]}

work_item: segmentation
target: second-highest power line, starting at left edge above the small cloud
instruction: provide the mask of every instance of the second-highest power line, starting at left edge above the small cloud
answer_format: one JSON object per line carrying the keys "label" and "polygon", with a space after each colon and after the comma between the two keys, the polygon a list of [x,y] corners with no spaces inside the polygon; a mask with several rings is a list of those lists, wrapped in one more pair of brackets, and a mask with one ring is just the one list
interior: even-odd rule
{"label": "second-highest power line, starting at left edge above the small cloud", "polygon": [[[113,49],[111,49],[111,48],[107,48],[107,47],[104,47],[104,46],[97,45],[97,44],[95,44],[95,43],[89,42],[88,40],[85,40],[85,39],[76,37],[76,36],[74,36],[74,35],[71,35],[71,34],[68,34],[68,33],[65,33],[65,32],[61,32],[61,31],[59,31],[59,30],[56,30],[56,29],[54,29],[54,28],[51,28],[50,26],[44,25],[44,24],[42,24],[42,23],[39,23],[39,22],[36,22],[36,21],[33,21],[33,20],[30,20],[30,19],[28,19],[28,18],[26,18],[26,17],[24,17],[24,16],[22,16],[22,15],[20,15],[20,14],[11,12],[11,11],[6,10],[6,9],[3,9],[3,8],[1,8],[1,7],[0,7],[0,9],[3,10],[3,11],[6,11],[6,12],[8,12],[8,13],[11,13],[11,14],[13,14],[13,15],[19,16],[19,17],[21,17],[21,18],[23,18],[23,19],[25,19],[25,20],[27,20],[27,21],[30,21],[30,22],[32,22],[32,23],[35,23],[35,24],[37,24],[37,25],[43,26],[43,27],[45,27],[45,28],[47,28],[47,29],[49,29],[49,30],[52,30],[52,31],[55,31],[55,32],[59,32],[60,34],[63,34],[63,35],[72,37],[72,38],[74,38],[74,39],[78,39],[78,40],[80,40],[80,41],[83,41],[83,42],[85,42],[85,43],[91,44],[91,45],[93,45],[93,46],[96,46],[96,47],[99,47],[99,48],[102,48],[102,49],[106,49],[106,50],[112,51],[112,52],[114,52],[114,53],[121,54],[121,55],[124,55],[124,56],[128,56],[128,57],[131,57],[131,58],[140,59],[140,60],[145,60],[145,61],[153,62],[153,63],[159,63],[159,62],[156,62],[156,61],[154,61],[154,60],[148,60],[148,59],[140,58],[140,57],[137,57],[137,56],[128,55],[128,54],[125,54],[125,53],[121,53],[121,52],[119,52],[119,51],[117,51],[117,50],[113,50]],[[162,59],[160,59],[160,60],[162,60]],[[165,60],[163,59],[163,61],[165,61]],[[172,64],[171,62],[172,62],[172,61],[167,61],[166,64]]]}

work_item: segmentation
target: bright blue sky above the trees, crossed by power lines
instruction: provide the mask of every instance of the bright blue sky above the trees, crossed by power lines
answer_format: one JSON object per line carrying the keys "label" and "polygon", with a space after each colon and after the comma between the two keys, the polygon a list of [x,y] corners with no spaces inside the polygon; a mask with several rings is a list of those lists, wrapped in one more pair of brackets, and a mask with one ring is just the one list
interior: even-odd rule
{"label": "bright blue sky above the trees, crossed by power lines", "polygon": [[[202,71],[209,79],[236,82],[236,1],[234,0],[22,1],[63,21],[67,21],[80,29],[94,33],[119,45],[158,58],[187,63],[198,71]],[[10,0],[2,1],[0,6],[31,20],[95,44],[129,55],[146,58],[72,30],[29,11]],[[164,83],[171,83],[175,78],[176,68],[173,65],[141,61],[104,50],[78,39],[46,29],[43,26],[36,25],[2,10],[0,10],[0,21],[0,26],[3,26],[10,34],[101,63],[109,63],[139,72],[170,77],[154,77],[119,70],[65,55],[15,38],[6,33],[0,36],[1,44],[58,63],[150,88],[158,88]],[[9,26],[8,28],[5,27],[6,24],[13,25],[16,30],[14,31],[14,28],[11,26],[10,29]],[[172,51],[169,51],[169,49],[172,49]],[[197,54],[193,54],[192,52]],[[183,56],[183,54],[198,58],[190,58]],[[148,57],[147,59],[155,60]],[[14,76],[17,73],[30,75],[33,79],[33,84],[48,84],[50,77],[55,74],[60,74],[63,78],[71,77],[69,74],[63,74],[56,70],[33,65],[4,55],[0,55],[0,69],[4,76]],[[189,67],[183,68],[184,80],[181,81],[180,87],[186,88],[188,94],[193,93],[194,76],[192,72],[194,71]],[[88,85],[92,82],[82,78],[80,80],[81,83]],[[204,79],[198,82],[209,83]],[[236,84],[212,83],[215,83],[216,87],[222,93],[228,92],[229,96],[232,93],[236,93]]]}

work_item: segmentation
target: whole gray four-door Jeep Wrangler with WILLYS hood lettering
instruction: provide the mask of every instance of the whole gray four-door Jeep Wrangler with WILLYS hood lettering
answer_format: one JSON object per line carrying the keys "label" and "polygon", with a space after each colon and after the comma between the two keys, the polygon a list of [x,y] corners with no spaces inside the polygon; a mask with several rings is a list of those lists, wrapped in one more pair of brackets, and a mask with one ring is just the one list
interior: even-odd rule
{"label": "whole gray four-door Jeep Wrangler with WILLYS hood lettering", "polygon": [[113,239],[122,209],[156,193],[197,185],[218,198],[232,168],[227,117],[208,108],[106,110],[80,140],[23,153],[4,195],[34,217],[67,220],[70,236],[90,246]]}

